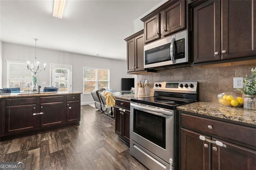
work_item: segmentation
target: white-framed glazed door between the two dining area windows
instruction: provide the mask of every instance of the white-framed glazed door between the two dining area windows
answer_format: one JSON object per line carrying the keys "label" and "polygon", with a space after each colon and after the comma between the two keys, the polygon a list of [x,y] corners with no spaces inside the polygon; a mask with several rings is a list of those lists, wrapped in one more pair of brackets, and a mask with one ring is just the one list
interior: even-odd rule
{"label": "white-framed glazed door between the two dining area windows", "polygon": [[58,87],[58,91],[72,91],[72,65],[51,65],[51,87]]}

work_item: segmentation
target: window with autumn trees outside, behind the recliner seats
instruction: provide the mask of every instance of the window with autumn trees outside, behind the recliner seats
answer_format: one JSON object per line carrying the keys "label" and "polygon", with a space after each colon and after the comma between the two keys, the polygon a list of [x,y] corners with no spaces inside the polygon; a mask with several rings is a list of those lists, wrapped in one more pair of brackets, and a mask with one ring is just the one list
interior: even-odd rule
{"label": "window with autumn trees outside, behind the recliner seats", "polygon": [[84,93],[91,93],[94,89],[109,88],[109,69],[95,69],[84,67]]}

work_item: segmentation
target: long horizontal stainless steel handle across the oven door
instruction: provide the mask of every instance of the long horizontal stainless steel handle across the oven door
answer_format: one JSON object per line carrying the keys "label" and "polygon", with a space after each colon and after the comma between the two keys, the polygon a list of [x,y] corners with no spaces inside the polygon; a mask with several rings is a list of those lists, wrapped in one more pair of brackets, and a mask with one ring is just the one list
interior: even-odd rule
{"label": "long horizontal stainless steel handle across the oven door", "polygon": [[[173,111],[166,111],[164,109],[154,109],[154,108],[149,108],[149,107],[143,107],[140,105],[136,105],[134,103],[130,103],[130,107],[134,107],[134,109],[140,110],[140,111],[149,111],[150,113],[154,115],[158,115],[161,117],[172,117]],[[160,112],[160,113],[158,113]]]}

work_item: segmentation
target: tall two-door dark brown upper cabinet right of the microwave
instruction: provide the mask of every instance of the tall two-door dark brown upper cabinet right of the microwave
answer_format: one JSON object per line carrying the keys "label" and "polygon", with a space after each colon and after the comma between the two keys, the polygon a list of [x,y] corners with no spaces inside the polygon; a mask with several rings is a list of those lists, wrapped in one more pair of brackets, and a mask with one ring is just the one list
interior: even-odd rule
{"label": "tall two-door dark brown upper cabinet right of the microwave", "polygon": [[209,0],[192,3],[194,63],[256,55],[253,0]]}

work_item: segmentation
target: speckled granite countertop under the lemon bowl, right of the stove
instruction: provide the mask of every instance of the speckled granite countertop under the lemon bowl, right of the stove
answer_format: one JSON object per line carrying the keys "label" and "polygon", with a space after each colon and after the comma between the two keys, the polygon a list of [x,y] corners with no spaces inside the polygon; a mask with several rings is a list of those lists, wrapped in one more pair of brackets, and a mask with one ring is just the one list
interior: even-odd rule
{"label": "speckled granite countertop under the lemon bowl, right of the stove", "polygon": [[227,107],[219,103],[196,102],[177,107],[178,110],[198,113],[221,119],[237,121],[256,125],[256,109],[244,109],[242,107]]}

